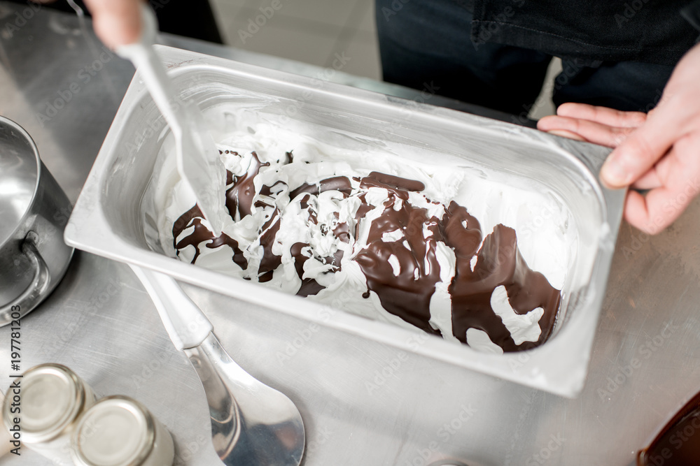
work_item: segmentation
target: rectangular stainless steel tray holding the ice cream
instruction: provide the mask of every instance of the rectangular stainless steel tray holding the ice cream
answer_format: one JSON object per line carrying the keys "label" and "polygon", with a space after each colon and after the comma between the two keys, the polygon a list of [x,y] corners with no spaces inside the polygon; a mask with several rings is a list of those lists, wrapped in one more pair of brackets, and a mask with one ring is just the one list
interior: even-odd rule
{"label": "rectangular stainless steel tray holding the ice cream", "polygon": [[569,397],[582,388],[622,216],[624,191],[598,184],[609,150],[454,110],[395,99],[207,55],[159,48],[180,89],[205,112],[222,103],[264,102],[266,112],[289,117],[298,131],[391,143],[416,154],[442,154],[435,163],[461,161],[503,180],[547,187],[573,212],[579,237],[562,289],[554,334],[541,347],[517,354],[482,354],[310,300],[228,277],[163,254],[155,234],[158,200],[149,197],[165,122],[138,74],[104,140],[66,226],[70,245],[168,273],[184,282],[339,328],[468,370]]}

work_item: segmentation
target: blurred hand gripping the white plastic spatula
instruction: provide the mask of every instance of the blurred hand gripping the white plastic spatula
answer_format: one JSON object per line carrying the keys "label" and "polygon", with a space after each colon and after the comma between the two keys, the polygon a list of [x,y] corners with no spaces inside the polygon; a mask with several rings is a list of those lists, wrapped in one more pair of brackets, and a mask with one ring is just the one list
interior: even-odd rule
{"label": "blurred hand gripping the white plastic spatula", "polygon": [[[35,1],[52,3],[55,0]],[[95,33],[112,50],[141,37],[141,3],[141,0],[85,0]]]}

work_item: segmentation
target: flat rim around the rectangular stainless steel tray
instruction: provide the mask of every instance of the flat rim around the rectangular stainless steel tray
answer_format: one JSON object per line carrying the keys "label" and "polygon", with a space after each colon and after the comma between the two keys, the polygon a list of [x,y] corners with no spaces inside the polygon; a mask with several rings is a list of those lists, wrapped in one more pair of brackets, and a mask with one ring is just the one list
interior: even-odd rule
{"label": "flat rim around the rectangular stainless steel tray", "polygon": [[[157,50],[162,59],[168,64],[168,68],[181,70],[187,66],[214,64],[238,73],[250,75],[253,78],[265,75],[266,79],[281,81],[286,85],[302,85],[318,91],[318,87],[310,85],[311,80],[316,78],[269,70],[268,68],[241,64],[228,59],[210,57],[209,55],[165,46],[157,46]],[[265,293],[259,293],[261,289],[259,284],[248,283],[235,277],[229,277],[218,272],[183,263],[156,252],[144,251],[139,247],[129,245],[111,230],[104,212],[102,212],[102,202],[100,200],[104,195],[102,187],[108,175],[106,169],[114,161],[114,144],[120,136],[120,128],[123,127],[123,123],[132,111],[132,108],[127,104],[130,101],[136,101],[145,92],[146,89],[143,83],[140,82],[139,74],[137,73],[127,89],[92,170],[90,170],[90,175],[87,177],[83,191],[81,191],[78,201],[73,208],[73,213],[64,233],[66,243],[108,259],[165,272],[176,279],[200,286],[209,291],[246,300],[249,303],[285,312],[299,319],[344,330],[370,340],[389,344],[404,351],[435,358],[468,370],[476,370],[492,377],[524,384],[568,398],[574,398],[580,393],[586,378],[598,316],[601,312],[604,298],[602,291],[589,293],[588,296],[584,296],[585,301],[582,306],[586,308],[585,310],[592,309],[593,316],[584,315],[583,309],[581,310],[582,312],[576,312],[570,316],[566,326],[561,328],[556,335],[542,346],[518,353],[491,355],[430,335],[426,335],[427,338],[423,338],[423,333],[416,333],[412,330],[381,321],[372,321],[354,314],[333,310],[331,307],[303,300],[303,298],[297,296],[290,296],[274,289],[265,289]],[[558,136],[550,136],[546,133],[512,123],[470,115],[458,110],[438,108],[427,103],[407,101],[407,99],[386,96],[385,94],[333,82],[324,81],[322,92],[330,94],[340,93],[346,97],[349,96],[353,99],[377,105],[408,105],[412,111],[415,110],[422,114],[433,115],[442,120],[447,119],[458,124],[476,124],[480,130],[496,133],[500,137],[515,137],[524,139],[529,143],[545,145],[549,150],[554,150],[562,155],[566,154],[567,158],[573,158],[577,163],[582,163],[589,172],[592,171],[591,169],[597,172],[605,156],[610,152],[605,147],[567,140]],[[605,214],[608,231],[603,231],[601,238],[599,238],[598,252],[591,271],[593,279],[591,279],[589,286],[594,290],[604,290],[608,281],[610,262],[615,249],[619,224],[622,219],[622,205],[626,190],[606,189],[592,173],[591,177],[596,182],[598,197],[603,201],[603,214]],[[594,294],[594,296],[591,296],[591,294]],[[288,300],[292,300],[291,303],[298,303],[298,305],[289,305]],[[416,340],[423,341],[420,344],[416,344]],[[577,358],[575,361],[572,361],[571,358],[563,358],[562,354],[576,354]]]}

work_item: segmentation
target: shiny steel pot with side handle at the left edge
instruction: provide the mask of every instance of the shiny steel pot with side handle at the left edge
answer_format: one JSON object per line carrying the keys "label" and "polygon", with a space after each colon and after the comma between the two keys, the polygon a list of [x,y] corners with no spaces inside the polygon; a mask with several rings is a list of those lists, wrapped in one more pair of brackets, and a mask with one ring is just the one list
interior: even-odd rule
{"label": "shiny steel pot with side handle at the left edge", "polygon": [[0,326],[33,310],[65,275],[71,209],[27,131],[0,117]]}

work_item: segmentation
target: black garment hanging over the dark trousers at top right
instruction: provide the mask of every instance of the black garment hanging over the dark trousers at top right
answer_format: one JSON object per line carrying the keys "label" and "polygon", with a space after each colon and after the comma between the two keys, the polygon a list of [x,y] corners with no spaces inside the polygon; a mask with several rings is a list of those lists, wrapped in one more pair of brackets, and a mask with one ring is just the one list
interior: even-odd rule
{"label": "black garment hanging over the dark trousers at top right", "polygon": [[475,0],[472,41],[563,58],[675,65],[698,36],[688,0]]}

